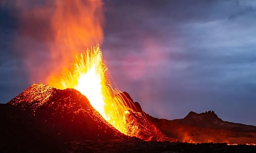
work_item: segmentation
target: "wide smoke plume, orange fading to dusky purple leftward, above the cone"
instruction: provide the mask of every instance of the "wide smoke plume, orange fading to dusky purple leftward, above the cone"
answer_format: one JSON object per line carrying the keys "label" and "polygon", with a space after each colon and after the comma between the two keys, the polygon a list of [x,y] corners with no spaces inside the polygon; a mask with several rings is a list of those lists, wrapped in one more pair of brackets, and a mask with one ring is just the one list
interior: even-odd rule
{"label": "wide smoke plume, orange fading to dusky purple leftward, above the cone", "polygon": [[75,55],[102,43],[101,0],[3,0],[17,19],[12,54],[27,67],[31,83],[58,88]]}

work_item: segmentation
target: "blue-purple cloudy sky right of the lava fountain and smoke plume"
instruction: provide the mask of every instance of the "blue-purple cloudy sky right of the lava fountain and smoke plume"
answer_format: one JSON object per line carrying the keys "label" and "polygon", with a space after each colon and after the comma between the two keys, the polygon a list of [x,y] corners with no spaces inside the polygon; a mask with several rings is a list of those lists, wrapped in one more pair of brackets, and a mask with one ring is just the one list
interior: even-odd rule
{"label": "blue-purple cloudy sky right of the lava fountain and smoke plume", "polygon": [[[214,109],[223,119],[255,125],[248,119],[255,107],[255,6],[247,2],[106,2],[102,49],[113,79],[153,116]],[[142,77],[132,73],[138,68]]]}

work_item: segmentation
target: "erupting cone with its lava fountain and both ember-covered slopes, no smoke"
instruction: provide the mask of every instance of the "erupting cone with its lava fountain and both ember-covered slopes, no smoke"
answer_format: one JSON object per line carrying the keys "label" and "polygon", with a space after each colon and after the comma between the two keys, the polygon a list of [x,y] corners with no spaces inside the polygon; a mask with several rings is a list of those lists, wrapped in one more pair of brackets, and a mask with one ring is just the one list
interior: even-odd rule
{"label": "erupting cone with its lava fountain and both ember-covered slopes, no smoke", "polygon": [[[98,126],[98,129],[104,129],[111,124],[121,133],[128,136],[135,136],[145,141],[174,140],[171,137],[166,137],[166,135],[161,132],[159,128],[157,128],[149,119],[146,118],[140,104],[133,102],[129,94],[126,92],[121,92],[118,89],[113,89],[108,79],[109,77],[108,68],[102,58],[102,52],[99,45],[97,45],[96,47],[91,47],[91,50],[87,49],[87,51],[81,53],[80,56],[76,56],[76,60],[73,62],[70,72],[68,74],[63,74],[63,77],[60,79],[60,83],[55,85],[58,89],[47,85],[34,84],[26,91],[18,95],[15,99],[12,99],[9,103],[26,110],[30,115],[39,117],[39,120],[42,122],[48,123],[49,120],[59,120],[58,117],[52,118],[52,116],[44,116],[44,114],[42,114],[42,112],[44,112],[42,109],[45,110],[47,108],[45,110],[47,112],[59,110],[64,114],[71,113],[72,116],[75,114],[73,118],[77,118],[77,114],[82,113],[84,116],[90,116],[89,120],[96,121],[95,123],[91,124],[93,124],[93,126],[95,125],[96,127]],[[79,96],[82,98],[76,98],[77,95],[80,95],[76,93],[78,91],[84,95]],[[70,96],[67,97],[67,95]],[[89,102],[90,105],[88,104]],[[97,113],[91,111],[92,107],[93,110],[95,109],[97,111]],[[56,112],[54,112],[54,114],[55,113]],[[97,115],[98,113],[103,118],[99,117]],[[72,122],[75,119],[70,120],[72,116],[62,116],[61,122],[68,123],[61,123],[61,125],[73,124]],[[63,119],[67,119],[67,121],[64,121]],[[86,121],[88,119],[84,119],[84,117],[82,117],[78,120],[84,122],[84,120]],[[99,124],[99,121],[102,122],[102,120],[106,120],[108,124]],[[77,136],[73,137],[66,133],[68,130],[65,126],[57,126],[57,123],[52,122],[53,121],[51,121],[51,126],[56,125],[56,127],[58,127],[57,129],[59,129],[57,130],[57,133],[62,133],[62,135],[66,137],[71,137],[71,140],[77,139]],[[75,125],[77,124],[78,123]],[[79,125],[78,128],[82,128],[80,126],[88,125],[82,124]],[[113,127],[110,127],[111,131],[113,130]],[[92,128],[92,125],[86,128]],[[85,132],[82,129],[78,131],[81,133]],[[96,131],[93,131],[91,133],[95,132]],[[105,133],[108,133],[108,131],[105,130]],[[100,134],[100,136],[102,136],[102,134]],[[111,138],[115,136],[107,137]],[[99,137],[99,135],[94,137]],[[78,136],[78,138],[80,138],[80,136]],[[84,138],[83,136],[82,138],[91,139]]]}

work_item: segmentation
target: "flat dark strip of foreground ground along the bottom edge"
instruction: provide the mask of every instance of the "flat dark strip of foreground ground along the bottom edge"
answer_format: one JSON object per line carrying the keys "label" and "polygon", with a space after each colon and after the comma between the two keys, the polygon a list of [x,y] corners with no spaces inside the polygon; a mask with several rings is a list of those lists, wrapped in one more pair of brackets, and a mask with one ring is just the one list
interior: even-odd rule
{"label": "flat dark strip of foreground ground along the bottom edge", "polygon": [[226,143],[171,143],[140,140],[74,141],[62,153],[256,153],[256,146]]}

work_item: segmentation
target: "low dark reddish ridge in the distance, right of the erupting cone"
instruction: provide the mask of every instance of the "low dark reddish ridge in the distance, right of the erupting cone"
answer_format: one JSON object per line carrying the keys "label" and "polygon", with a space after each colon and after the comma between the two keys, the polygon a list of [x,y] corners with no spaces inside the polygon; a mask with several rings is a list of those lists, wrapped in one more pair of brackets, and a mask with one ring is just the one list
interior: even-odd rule
{"label": "low dark reddish ridge in the distance, right of the erupting cone", "polygon": [[256,127],[223,121],[214,111],[189,112],[183,119],[157,119],[147,114],[163,133],[180,142],[256,143]]}

